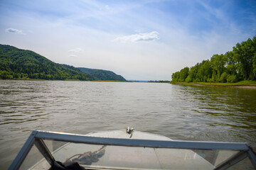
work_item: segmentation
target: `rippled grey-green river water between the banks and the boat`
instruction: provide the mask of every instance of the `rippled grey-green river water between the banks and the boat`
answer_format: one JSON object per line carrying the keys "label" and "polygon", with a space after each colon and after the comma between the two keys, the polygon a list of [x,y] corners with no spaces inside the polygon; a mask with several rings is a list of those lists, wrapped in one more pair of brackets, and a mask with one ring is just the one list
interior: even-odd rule
{"label": "rippled grey-green river water between the banks and the boat", "polygon": [[0,80],[0,167],[32,130],[87,134],[133,127],[173,140],[251,142],[256,90],[158,83]]}

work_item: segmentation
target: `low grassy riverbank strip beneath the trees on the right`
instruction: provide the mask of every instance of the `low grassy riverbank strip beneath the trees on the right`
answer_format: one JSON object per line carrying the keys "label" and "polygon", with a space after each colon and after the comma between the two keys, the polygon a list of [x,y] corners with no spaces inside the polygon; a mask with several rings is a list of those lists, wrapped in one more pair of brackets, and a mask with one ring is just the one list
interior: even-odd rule
{"label": "low grassy riverbank strip beneath the trees on the right", "polygon": [[236,88],[243,88],[243,89],[256,89],[256,81],[239,81],[237,83],[171,82],[171,84],[186,85],[186,86],[223,86],[223,87],[236,87]]}

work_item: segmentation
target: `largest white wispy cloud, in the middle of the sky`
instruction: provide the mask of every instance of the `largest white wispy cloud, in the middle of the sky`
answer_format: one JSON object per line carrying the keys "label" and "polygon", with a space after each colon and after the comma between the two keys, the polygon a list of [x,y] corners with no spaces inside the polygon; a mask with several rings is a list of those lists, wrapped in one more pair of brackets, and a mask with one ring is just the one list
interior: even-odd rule
{"label": "largest white wispy cloud, in the middle of the sky", "polygon": [[151,41],[159,40],[159,33],[152,31],[151,33],[138,33],[127,36],[115,38],[114,41],[120,42],[138,42],[138,41]]}

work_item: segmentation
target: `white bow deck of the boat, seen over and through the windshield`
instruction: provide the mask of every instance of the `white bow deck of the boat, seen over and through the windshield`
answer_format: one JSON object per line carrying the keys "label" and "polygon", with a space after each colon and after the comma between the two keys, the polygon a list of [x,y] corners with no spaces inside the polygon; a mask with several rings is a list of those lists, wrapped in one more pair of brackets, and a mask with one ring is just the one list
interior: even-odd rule
{"label": "white bow deck of the boat, seen over and through the windshield", "polygon": [[[171,140],[168,137],[134,130],[128,134],[126,130],[90,133],[92,137],[112,137],[140,140]],[[101,157],[90,161],[92,155]],[[86,164],[80,165],[90,169],[214,169],[206,159],[190,149],[164,149],[151,147],[119,147],[107,145],[86,145],[68,143],[53,153],[56,161],[65,162],[74,155],[84,156]],[[79,154],[79,155],[78,155]],[[84,159],[85,161],[85,159]],[[85,163],[85,162],[83,162]],[[38,162],[32,169],[49,169],[46,160]]]}

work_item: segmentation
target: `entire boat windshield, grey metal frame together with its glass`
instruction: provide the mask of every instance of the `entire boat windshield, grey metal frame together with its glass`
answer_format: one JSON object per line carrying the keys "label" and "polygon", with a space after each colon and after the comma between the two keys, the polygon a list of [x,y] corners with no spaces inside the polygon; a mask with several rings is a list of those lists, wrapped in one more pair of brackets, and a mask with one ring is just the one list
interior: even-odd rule
{"label": "entire boat windshield, grey metal frame together with its glass", "polygon": [[[255,169],[247,143],[127,140],[33,131],[10,169]],[[71,165],[71,166],[70,166]]]}

